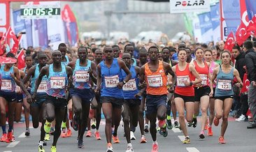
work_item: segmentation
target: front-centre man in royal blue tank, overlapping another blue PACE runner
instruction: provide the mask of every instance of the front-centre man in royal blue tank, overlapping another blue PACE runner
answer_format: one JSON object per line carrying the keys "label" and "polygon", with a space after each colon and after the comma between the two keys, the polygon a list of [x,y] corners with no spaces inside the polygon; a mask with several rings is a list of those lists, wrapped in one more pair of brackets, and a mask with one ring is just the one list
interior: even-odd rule
{"label": "front-centre man in royal blue tank, overlapping another blue PACE runner", "polygon": [[[113,151],[111,144],[111,122],[115,120],[115,128],[118,128],[124,99],[122,86],[129,81],[131,73],[122,60],[113,57],[112,47],[104,47],[104,56],[106,57],[105,61],[101,61],[97,67],[98,77],[95,92],[99,93],[99,89],[101,89],[102,110],[106,118],[105,134],[108,143],[107,151],[111,152]],[[121,70],[125,70],[127,74],[125,79],[122,79]],[[115,115],[112,119],[113,114]],[[117,132],[113,133],[113,139],[114,141],[118,141]]]}

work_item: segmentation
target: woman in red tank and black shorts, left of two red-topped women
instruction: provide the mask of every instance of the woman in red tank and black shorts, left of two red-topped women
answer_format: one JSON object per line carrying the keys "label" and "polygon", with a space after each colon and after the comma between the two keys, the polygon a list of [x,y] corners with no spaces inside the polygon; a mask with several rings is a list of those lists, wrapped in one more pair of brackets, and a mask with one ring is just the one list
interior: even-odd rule
{"label": "woman in red tank and black shorts, left of two red-topped women", "polygon": [[[178,117],[180,121],[180,128],[183,130],[185,140],[183,144],[190,144],[190,137],[187,133],[185,126],[185,109],[187,122],[192,121],[192,115],[194,112],[194,88],[193,84],[201,82],[201,77],[189,63],[186,63],[187,52],[186,50],[178,51],[178,61],[176,66],[173,66],[173,72],[177,75],[177,84],[174,92],[174,102],[178,110]],[[192,75],[197,79],[192,81]]]}

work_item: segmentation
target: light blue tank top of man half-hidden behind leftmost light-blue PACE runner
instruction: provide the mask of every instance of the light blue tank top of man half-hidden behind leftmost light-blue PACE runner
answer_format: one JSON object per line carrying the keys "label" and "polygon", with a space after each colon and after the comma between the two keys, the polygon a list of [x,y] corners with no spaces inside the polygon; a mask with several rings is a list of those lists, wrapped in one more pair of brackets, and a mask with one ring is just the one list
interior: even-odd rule
{"label": "light blue tank top of man half-hidden behind leftmost light-blue PACE runner", "polygon": [[[40,70],[39,70],[39,64],[36,64],[36,69],[34,72],[34,76],[31,77],[31,94],[34,93],[35,91],[35,87],[36,87],[36,79],[38,78],[39,74],[40,74]],[[38,94],[45,94],[47,91],[47,76],[43,76],[41,84],[39,84],[38,89],[37,89],[37,93]]]}

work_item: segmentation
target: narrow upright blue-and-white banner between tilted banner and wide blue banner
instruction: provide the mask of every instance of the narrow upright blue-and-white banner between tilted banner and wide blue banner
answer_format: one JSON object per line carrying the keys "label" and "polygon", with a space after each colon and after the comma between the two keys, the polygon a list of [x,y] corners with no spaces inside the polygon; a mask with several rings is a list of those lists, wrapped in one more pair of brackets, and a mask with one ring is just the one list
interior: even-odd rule
{"label": "narrow upright blue-and-white banner between tilted banner and wide blue banner", "polygon": [[220,3],[211,6],[211,24],[213,26],[214,43],[220,40]]}

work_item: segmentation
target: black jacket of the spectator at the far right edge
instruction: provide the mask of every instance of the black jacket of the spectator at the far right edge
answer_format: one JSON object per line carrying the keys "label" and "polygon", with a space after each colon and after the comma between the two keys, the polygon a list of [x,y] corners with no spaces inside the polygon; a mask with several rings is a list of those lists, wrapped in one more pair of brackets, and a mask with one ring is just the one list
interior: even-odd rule
{"label": "black jacket of the spectator at the far right edge", "polygon": [[250,49],[246,52],[246,68],[248,71],[248,79],[250,82],[256,82],[256,52]]}

